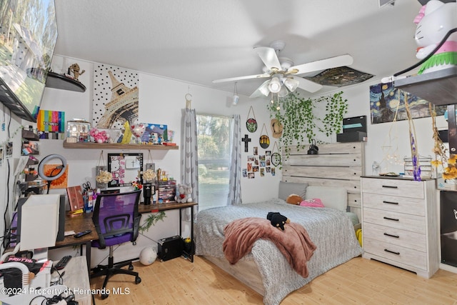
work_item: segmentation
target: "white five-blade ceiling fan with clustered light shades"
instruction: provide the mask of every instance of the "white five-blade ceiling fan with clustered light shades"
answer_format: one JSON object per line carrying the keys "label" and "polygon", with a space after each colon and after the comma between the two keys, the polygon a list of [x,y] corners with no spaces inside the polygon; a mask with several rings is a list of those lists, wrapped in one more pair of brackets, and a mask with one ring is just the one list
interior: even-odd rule
{"label": "white five-blade ceiling fan with clustered light shades", "polygon": [[338,66],[348,66],[353,63],[352,56],[344,54],[293,66],[293,61],[291,61],[291,59],[278,56],[279,51],[281,51],[285,45],[284,41],[273,41],[269,47],[254,47],[254,51],[257,52],[258,56],[263,61],[263,64],[265,64],[263,74],[231,77],[229,79],[216,79],[213,83],[268,78],[268,80],[264,81],[250,97],[258,97],[262,94],[268,96],[270,93],[278,94],[279,97],[283,97],[289,92],[295,91],[297,88],[313,93],[321,89],[322,85],[309,81],[308,79],[303,79],[303,77],[298,75],[336,68]]}

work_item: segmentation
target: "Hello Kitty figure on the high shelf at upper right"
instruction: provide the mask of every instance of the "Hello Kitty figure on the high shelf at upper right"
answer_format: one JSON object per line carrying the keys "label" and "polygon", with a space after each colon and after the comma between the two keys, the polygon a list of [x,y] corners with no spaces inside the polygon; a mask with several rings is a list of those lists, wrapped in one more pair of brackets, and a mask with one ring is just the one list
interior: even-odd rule
{"label": "Hello Kitty figure on the high shelf at upper right", "polygon": [[[422,6],[418,16],[414,19],[417,24],[416,44],[418,45],[416,57],[424,59],[449,30],[457,28],[457,3],[443,3],[430,0]],[[451,34],[444,44],[421,66],[418,74],[438,71],[457,65],[457,33]]]}

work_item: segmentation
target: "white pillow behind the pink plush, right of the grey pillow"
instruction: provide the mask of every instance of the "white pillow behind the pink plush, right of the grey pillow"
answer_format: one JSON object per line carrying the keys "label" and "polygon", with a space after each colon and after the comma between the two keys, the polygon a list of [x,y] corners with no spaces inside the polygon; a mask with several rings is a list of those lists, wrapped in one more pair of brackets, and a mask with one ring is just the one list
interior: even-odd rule
{"label": "white pillow behind the pink plush, right of the grey pillow", "polygon": [[339,186],[308,186],[304,199],[321,199],[326,208],[346,211],[348,206],[348,192]]}

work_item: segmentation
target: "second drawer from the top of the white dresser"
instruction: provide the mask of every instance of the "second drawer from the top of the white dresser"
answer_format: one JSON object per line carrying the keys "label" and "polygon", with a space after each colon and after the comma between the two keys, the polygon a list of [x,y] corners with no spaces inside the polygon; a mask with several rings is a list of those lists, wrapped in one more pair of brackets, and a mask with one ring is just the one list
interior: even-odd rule
{"label": "second drawer from the top of the white dresser", "polygon": [[425,201],[418,198],[363,193],[363,207],[418,216],[426,215]]}

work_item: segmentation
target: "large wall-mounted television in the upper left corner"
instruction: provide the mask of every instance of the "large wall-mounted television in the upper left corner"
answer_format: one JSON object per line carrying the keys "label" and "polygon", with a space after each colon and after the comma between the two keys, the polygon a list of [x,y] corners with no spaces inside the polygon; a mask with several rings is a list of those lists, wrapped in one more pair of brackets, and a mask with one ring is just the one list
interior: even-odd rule
{"label": "large wall-mounted television in the upper left corner", "polygon": [[0,1],[0,101],[36,121],[57,41],[54,0]]}

